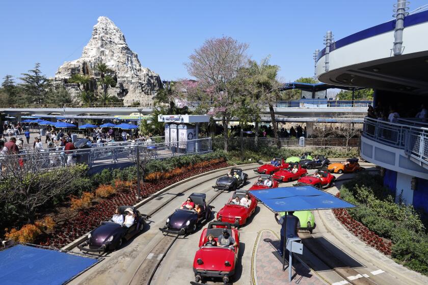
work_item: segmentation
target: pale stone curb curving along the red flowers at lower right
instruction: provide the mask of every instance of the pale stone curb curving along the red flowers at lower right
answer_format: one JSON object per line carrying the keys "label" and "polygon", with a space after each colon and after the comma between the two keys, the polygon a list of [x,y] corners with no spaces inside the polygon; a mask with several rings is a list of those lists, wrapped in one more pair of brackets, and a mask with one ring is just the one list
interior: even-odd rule
{"label": "pale stone curb curving along the red flowers at lower right", "polygon": [[[325,211],[331,211],[331,210],[325,210]],[[332,213],[333,217],[336,219],[336,217],[334,216],[334,214]],[[341,243],[343,243],[343,245],[345,245],[347,248],[349,248],[350,250],[352,250],[353,252],[355,252],[356,254],[360,255],[360,257],[362,257],[363,259],[365,259],[366,261],[372,263],[374,266],[379,267],[379,269],[382,269],[383,271],[391,274],[392,276],[398,277],[399,279],[401,279],[402,281],[407,282],[408,284],[420,284],[420,285],[425,285],[425,282],[421,282],[420,280],[416,280],[414,278],[412,278],[411,276],[406,275],[405,272],[399,272],[396,270],[393,270],[393,268],[391,268],[391,266],[385,264],[382,261],[379,261],[376,258],[373,258],[372,255],[370,255],[368,252],[365,252],[364,250],[361,250],[358,248],[358,246],[356,246],[355,244],[353,244],[352,242],[350,242],[349,240],[347,240],[346,238],[344,238],[342,235],[339,235],[337,233],[337,231],[335,229],[333,229],[333,227],[331,226],[330,222],[326,219],[326,217],[323,215],[323,213],[319,213],[319,217],[321,218],[321,220],[323,221],[324,225],[326,226],[327,230],[336,238],[338,239]],[[337,220],[337,219],[336,219]],[[343,227],[343,225],[338,221],[338,223]],[[346,231],[347,233],[349,233],[345,227],[343,227],[343,230]],[[353,235],[354,236],[354,235]],[[356,237],[357,238],[357,237]],[[357,238],[358,239],[358,238]],[[359,240],[359,239],[358,239]],[[362,241],[361,241],[362,242]],[[362,242],[363,243],[363,242]],[[368,245],[365,245],[373,250],[376,250]],[[377,250],[376,250],[377,251]],[[405,270],[408,271],[408,273],[412,273],[412,274],[419,274],[415,271],[412,271],[400,264],[397,264],[396,262],[394,262],[393,260],[391,260],[390,258],[386,257],[391,263],[395,263],[397,266],[403,267]],[[420,275],[420,277],[424,277],[423,275]]]}

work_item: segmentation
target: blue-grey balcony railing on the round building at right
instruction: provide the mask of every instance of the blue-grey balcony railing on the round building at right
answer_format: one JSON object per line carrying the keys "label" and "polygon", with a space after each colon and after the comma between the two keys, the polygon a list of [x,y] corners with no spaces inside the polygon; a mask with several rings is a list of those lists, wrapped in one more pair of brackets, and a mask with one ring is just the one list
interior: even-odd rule
{"label": "blue-grey balcony railing on the round building at right", "polygon": [[412,123],[412,121],[412,119],[404,119],[399,120],[398,123],[391,123],[365,118],[363,136],[384,145],[403,149],[420,164],[428,164],[428,128],[418,126],[421,123],[425,124],[424,122],[414,120]]}

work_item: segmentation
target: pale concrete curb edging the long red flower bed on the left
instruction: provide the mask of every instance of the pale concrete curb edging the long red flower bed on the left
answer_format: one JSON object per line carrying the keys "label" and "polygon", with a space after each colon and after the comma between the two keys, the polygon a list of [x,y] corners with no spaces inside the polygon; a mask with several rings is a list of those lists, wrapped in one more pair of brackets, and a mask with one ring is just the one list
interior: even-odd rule
{"label": "pale concrete curb edging the long red flower bed on the left", "polygon": [[[256,165],[259,165],[259,164],[258,163],[249,163],[249,164],[241,164],[241,165],[237,165],[237,166],[242,168],[242,167],[246,167],[246,166],[256,166]],[[153,193],[149,197],[147,197],[144,200],[142,200],[142,201],[138,202],[137,204],[133,205],[133,207],[135,207],[136,209],[138,209],[141,206],[143,206],[144,204],[146,204],[147,202],[153,200],[158,195],[160,195],[160,194],[162,194],[162,193],[164,193],[164,192],[166,192],[166,191],[168,191],[168,190],[170,190],[170,189],[172,189],[174,187],[177,187],[180,184],[183,184],[185,182],[189,182],[189,181],[191,181],[193,179],[196,179],[196,178],[199,178],[199,177],[202,177],[202,176],[205,176],[205,175],[213,174],[213,173],[216,173],[216,172],[221,172],[221,171],[224,171],[224,170],[229,169],[231,167],[234,167],[234,166],[230,165],[228,167],[223,167],[223,168],[211,170],[209,172],[201,173],[201,174],[198,174],[198,175],[186,178],[184,180],[178,181],[178,182],[176,182],[174,184],[171,184],[171,185],[169,185],[169,186],[167,186],[167,187],[165,187],[165,188],[157,191],[156,193]],[[84,241],[86,241],[87,239],[88,239],[88,233],[86,233],[85,235],[83,235],[83,236],[75,239],[74,241],[70,242],[69,244],[65,245],[64,247],[61,248],[61,250],[71,250],[74,247],[76,247],[77,245],[79,245],[79,244],[83,243]]]}

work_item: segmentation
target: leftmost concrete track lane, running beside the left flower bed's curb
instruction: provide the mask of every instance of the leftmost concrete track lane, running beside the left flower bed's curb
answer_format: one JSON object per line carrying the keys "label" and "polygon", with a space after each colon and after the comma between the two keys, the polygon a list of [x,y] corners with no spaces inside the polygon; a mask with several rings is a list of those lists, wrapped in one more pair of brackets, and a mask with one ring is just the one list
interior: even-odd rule
{"label": "leftmost concrete track lane, running beside the left flower bed's curb", "polygon": [[[230,166],[230,168],[232,167]],[[255,167],[257,165],[253,164],[240,168],[250,173],[249,170]],[[206,193],[208,200],[211,196],[210,193],[217,193],[213,191],[211,186],[215,185],[217,178],[226,175],[226,173],[227,169],[223,169],[221,172],[211,173],[184,182],[166,192],[156,195],[155,198],[139,207],[138,210],[141,213],[154,212],[153,216],[149,219],[149,229],[124,243],[120,249],[106,254],[104,261],[99,266],[78,276],[71,284],[128,284],[128,280],[132,278],[133,273],[150,254],[151,249],[162,240],[163,234],[158,230],[158,227],[164,226],[165,219],[183,202],[181,201],[185,197],[182,194],[183,188],[193,190],[193,192]],[[173,199],[167,205],[164,205],[166,201],[164,199],[171,199],[170,195],[173,196]],[[156,200],[159,197],[163,198]]]}

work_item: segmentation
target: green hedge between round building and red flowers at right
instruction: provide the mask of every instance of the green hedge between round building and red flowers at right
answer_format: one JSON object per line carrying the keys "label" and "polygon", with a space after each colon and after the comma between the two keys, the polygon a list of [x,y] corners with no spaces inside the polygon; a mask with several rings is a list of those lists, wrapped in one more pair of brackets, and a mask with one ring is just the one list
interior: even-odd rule
{"label": "green hedge between round building and red flowers at right", "polygon": [[340,188],[340,196],[357,208],[349,214],[370,231],[392,241],[391,257],[428,275],[428,235],[411,205],[396,204],[378,175],[360,174]]}

